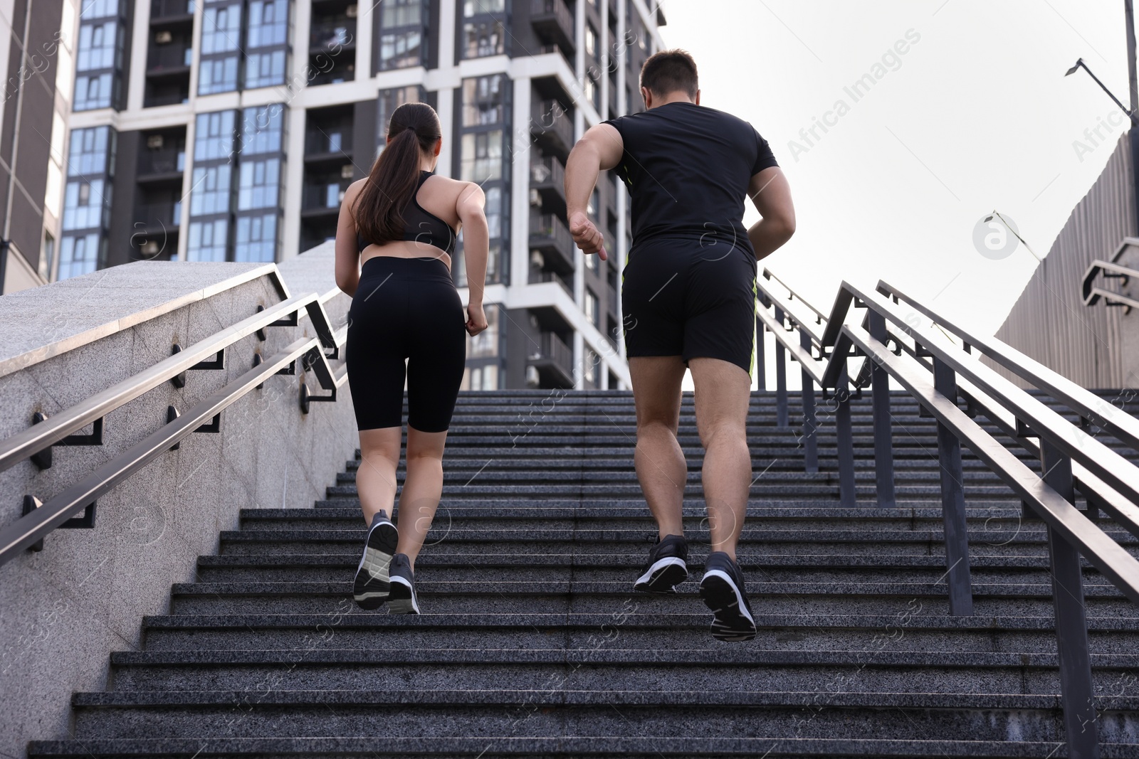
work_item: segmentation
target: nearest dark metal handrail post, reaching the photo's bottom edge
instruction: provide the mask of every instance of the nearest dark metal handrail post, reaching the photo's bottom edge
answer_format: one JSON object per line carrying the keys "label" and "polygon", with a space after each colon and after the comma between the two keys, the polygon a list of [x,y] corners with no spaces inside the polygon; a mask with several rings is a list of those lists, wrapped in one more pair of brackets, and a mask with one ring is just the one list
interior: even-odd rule
{"label": "nearest dark metal handrail post, reaching the photo's bottom edge", "polygon": [[[1068,503],[1073,503],[1075,492],[1072,486],[1072,460],[1041,437],[1040,463],[1044,482]],[[1064,703],[1067,756],[1072,759],[1099,759],[1099,728],[1096,723],[1091,657],[1088,653],[1088,620],[1083,607],[1080,552],[1049,527],[1048,558],[1052,575],[1052,604],[1056,609],[1056,644],[1060,663],[1060,698]]]}

